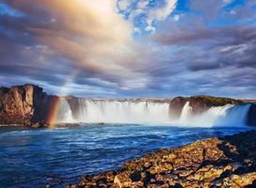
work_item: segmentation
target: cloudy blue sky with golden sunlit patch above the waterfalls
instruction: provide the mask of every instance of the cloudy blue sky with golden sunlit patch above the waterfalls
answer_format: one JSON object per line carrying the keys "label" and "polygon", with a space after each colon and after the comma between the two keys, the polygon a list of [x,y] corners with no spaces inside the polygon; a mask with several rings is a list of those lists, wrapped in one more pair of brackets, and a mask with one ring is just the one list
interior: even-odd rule
{"label": "cloudy blue sky with golden sunlit patch above the waterfalls", "polygon": [[0,86],[256,98],[255,0],[0,0]]}

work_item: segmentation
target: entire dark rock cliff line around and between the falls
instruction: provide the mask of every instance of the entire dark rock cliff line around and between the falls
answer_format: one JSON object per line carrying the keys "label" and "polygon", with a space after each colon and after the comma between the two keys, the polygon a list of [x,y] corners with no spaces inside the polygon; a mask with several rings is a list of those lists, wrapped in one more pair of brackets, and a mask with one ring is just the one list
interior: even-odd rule
{"label": "entire dark rock cliff line around and between the falls", "polygon": [[[65,97],[72,110],[72,117],[79,118],[80,99]],[[96,99],[101,101],[99,99]],[[60,98],[47,95],[40,86],[24,85],[0,87],[0,124],[22,124],[42,126],[50,123],[50,115],[55,111]],[[111,101],[111,100],[108,100]],[[169,102],[169,116],[180,118],[184,104],[189,102],[194,115],[201,114],[213,106],[226,104],[242,104],[244,101],[211,96],[195,96],[190,98],[177,97],[170,99],[118,99],[120,102]],[[55,111],[56,112],[56,111]],[[256,125],[256,104],[251,103],[248,111],[247,124]]]}

